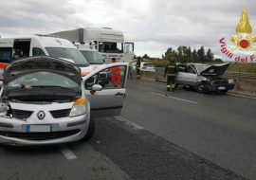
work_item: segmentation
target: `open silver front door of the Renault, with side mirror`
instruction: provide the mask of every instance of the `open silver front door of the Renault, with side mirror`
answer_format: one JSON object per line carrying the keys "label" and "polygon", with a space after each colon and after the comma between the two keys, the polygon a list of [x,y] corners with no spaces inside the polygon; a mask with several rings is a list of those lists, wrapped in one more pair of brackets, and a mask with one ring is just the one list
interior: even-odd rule
{"label": "open silver front door of the Renault, with side mirror", "polygon": [[120,114],[125,98],[127,76],[128,63],[108,63],[83,78],[92,117],[111,117]]}

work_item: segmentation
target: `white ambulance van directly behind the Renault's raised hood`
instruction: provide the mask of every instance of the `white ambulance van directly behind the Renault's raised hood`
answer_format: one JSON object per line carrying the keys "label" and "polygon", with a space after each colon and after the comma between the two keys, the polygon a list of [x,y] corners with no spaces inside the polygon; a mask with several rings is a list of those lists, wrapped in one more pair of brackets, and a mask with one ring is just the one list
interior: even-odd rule
{"label": "white ambulance van directly behind the Renault's raised hood", "polygon": [[65,39],[46,36],[29,38],[0,38],[0,63],[10,63],[14,52],[22,52],[21,58],[51,56],[75,63],[85,76],[92,67],[75,45]]}

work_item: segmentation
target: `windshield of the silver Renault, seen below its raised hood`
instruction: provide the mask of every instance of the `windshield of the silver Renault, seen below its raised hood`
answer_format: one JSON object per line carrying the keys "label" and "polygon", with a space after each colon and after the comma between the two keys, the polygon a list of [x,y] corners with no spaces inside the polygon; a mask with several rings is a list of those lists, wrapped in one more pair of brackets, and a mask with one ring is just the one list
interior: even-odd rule
{"label": "windshield of the silver Renault, seen below its raised hood", "polygon": [[9,89],[32,88],[36,86],[73,89],[79,87],[80,84],[60,74],[46,71],[29,73],[8,83]]}

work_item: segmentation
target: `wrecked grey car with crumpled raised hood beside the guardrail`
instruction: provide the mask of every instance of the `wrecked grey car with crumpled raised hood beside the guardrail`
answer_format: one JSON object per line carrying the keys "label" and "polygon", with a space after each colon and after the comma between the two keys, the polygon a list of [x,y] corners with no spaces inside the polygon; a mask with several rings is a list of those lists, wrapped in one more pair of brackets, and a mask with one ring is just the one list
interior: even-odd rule
{"label": "wrecked grey car with crumpled raised hood beside the guardrail", "polygon": [[178,72],[176,83],[186,85],[196,89],[199,93],[218,92],[227,93],[234,87],[233,80],[221,78],[229,67],[229,63],[204,64],[188,63],[185,65],[184,72]]}

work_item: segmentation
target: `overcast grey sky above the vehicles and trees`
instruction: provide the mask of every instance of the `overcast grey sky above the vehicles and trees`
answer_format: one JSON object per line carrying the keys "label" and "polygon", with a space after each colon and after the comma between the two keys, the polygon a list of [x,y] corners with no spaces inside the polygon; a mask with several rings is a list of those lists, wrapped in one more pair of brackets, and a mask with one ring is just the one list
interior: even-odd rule
{"label": "overcast grey sky above the vehicles and trees", "polygon": [[[78,27],[112,27],[136,54],[160,57],[168,47],[210,47],[235,33],[243,8],[256,34],[254,0],[0,0],[0,35],[29,36]],[[225,58],[224,58],[225,59]]]}

